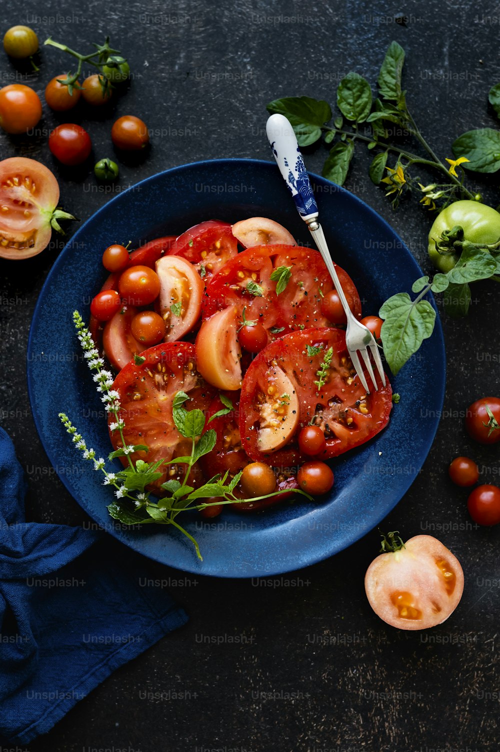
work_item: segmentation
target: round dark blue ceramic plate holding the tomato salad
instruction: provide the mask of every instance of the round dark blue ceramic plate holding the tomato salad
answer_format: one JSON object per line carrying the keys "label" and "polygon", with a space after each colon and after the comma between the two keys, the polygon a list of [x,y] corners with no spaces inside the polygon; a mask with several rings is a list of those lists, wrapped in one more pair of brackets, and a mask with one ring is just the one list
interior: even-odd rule
{"label": "round dark blue ceramic plate holding the tomato salad", "polygon": [[[312,182],[330,250],[357,284],[363,311],[376,313],[389,296],[410,290],[422,271],[390,226],[348,191],[315,175]],[[129,530],[112,520],[106,508],[112,501],[110,489],[101,484],[102,475],[92,463],[81,459],[58,418],[65,411],[87,446],[107,456],[110,441],[102,404],[83,363],[71,314],[77,308],[89,315],[89,302],[105,278],[101,254],[110,243],[131,239],[136,247],[202,220],[234,223],[255,215],[271,217],[300,243],[310,244],[274,162],[197,162],[143,180],[96,212],[62,251],[38,299],[28,346],[29,397],[38,433],[74,499],[103,529],[145,556],[218,577],[299,569],[369,532],[414,481],[432,444],[444,397],[444,343],[437,319],[432,338],[392,379],[402,400],[387,428],[333,462],[335,486],[327,502],[285,503],[258,514],[227,508],[206,522],[186,514],[183,524],[197,538],[203,562],[173,529]]]}

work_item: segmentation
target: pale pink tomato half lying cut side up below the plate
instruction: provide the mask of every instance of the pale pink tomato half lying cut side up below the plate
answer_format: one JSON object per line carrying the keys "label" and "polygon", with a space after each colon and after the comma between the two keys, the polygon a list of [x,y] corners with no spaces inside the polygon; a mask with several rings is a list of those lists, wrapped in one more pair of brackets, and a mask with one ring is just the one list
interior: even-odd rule
{"label": "pale pink tomato half lying cut side up below the plate", "polygon": [[399,629],[429,629],[453,613],[463,592],[456,556],[431,535],[416,535],[399,550],[381,553],[365,576],[375,614]]}

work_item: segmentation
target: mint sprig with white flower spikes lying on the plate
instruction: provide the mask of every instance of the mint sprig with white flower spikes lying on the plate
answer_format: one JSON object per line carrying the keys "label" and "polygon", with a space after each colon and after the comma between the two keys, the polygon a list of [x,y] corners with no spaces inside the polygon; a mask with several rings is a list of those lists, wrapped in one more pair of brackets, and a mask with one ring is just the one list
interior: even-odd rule
{"label": "mint sprig with white flower spikes lying on the plate", "polygon": [[[128,467],[118,472],[107,472],[104,457],[96,459],[95,450],[92,448],[89,449],[86,446],[85,439],[77,432],[77,428],[71,423],[68,415],[61,412],[59,413],[59,419],[63,426],[65,426],[66,431],[71,435],[71,439],[77,450],[82,452],[83,459],[91,460],[94,463],[94,469],[104,473],[104,485],[114,488],[116,502],[108,506],[108,511],[113,519],[119,520],[125,525],[144,525],[147,523],[172,525],[179,532],[182,532],[182,535],[189,538],[194,545],[198,558],[203,560],[197,541],[176,521],[178,514],[185,511],[200,511],[214,505],[227,505],[248,501],[256,502],[261,499],[279,496],[283,493],[290,493],[289,490],[279,490],[264,494],[263,496],[252,497],[252,499],[239,499],[234,492],[242,476],[241,472],[234,475],[233,478],[228,477],[228,472],[223,476],[214,475],[206,484],[196,489],[189,486],[187,481],[191,468],[200,457],[212,451],[215,446],[216,433],[214,429],[208,429],[203,432],[206,422],[203,412],[197,409],[186,410],[184,405],[190,398],[182,391],[177,392],[173,399],[173,422],[182,436],[191,438],[191,454],[176,457],[169,461],[159,459],[156,462],[144,462],[143,459],[137,459],[136,462],[133,462],[131,453],[139,450],[147,452],[149,447],[145,444],[126,443],[123,433],[125,421],[119,417],[119,393],[112,388],[113,375],[104,368],[104,359],[99,355],[89,329],[83,323],[83,319],[78,311],[74,311],[73,320],[77,329],[78,339],[87,360],[87,365],[91,371],[95,371],[94,381],[97,384],[98,392],[102,394],[101,400],[104,402],[104,409],[108,414],[112,414],[115,419],[113,423],[110,423],[110,430],[111,432],[119,432],[122,443],[122,446],[111,452],[107,459],[113,460],[116,457],[126,456]],[[223,394],[220,397],[224,408],[213,415],[209,419],[209,422],[219,415],[226,414],[233,408],[230,399],[227,399]],[[161,466],[179,463],[188,466],[182,483],[176,479],[165,481],[161,484],[164,496],[160,499],[157,496],[152,496],[147,487],[161,478]],[[301,489],[294,490],[294,493],[305,496],[306,499],[312,501],[312,496],[309,496],[308,493]],[[203,501],[203,499],[209,498],[216,498],[217,501]]]}

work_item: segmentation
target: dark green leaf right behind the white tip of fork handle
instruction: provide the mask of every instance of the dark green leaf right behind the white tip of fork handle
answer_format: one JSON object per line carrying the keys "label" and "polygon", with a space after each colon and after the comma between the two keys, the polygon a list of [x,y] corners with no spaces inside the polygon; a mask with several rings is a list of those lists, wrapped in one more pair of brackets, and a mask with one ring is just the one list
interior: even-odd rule
{"label": "dark green leaf right behind the white tip of fork handle", "polygon": [[332,117],[328,102],[309,96],[290,96],[275,99],[267,105],[270,114],[279,112],[290,120],[299,146],[309,146],[321,138],[321,126]]}

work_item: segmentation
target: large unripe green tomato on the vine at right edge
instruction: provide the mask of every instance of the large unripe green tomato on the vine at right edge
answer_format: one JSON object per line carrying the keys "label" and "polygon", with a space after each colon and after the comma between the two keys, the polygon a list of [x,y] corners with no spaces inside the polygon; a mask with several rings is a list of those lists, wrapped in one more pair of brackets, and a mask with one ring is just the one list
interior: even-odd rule
{"label": "large unripe green tomato on the vine at right edge", "polygon": [[444,274],[453,269],[459,259],[459,253],[442,255],[435,250],[435,241],[444,230],[459,225],[464,232],[464,239],[471,243],[491,244],[500,238],[500,214],[491,206],[475,201],[456,201],[447,206],[434,220],[429,232],[427,250],[435,268]]}

